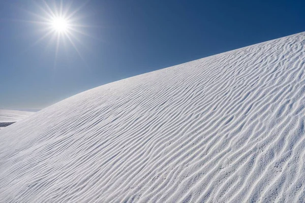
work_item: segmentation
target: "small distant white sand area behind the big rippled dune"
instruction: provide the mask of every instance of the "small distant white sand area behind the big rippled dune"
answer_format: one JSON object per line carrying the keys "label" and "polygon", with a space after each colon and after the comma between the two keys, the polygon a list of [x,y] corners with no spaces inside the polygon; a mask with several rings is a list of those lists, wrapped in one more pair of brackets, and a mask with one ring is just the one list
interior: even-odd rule
{"label": "small distant white sand area behind the big rippled dune", "polygon": [[0,129],[31,116],[34,112],[0,109]]}

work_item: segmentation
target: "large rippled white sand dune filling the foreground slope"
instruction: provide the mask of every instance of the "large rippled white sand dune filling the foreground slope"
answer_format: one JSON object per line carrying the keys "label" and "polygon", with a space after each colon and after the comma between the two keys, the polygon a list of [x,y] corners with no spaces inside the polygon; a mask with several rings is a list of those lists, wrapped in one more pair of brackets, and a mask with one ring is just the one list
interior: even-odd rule
{"label": "large rippled white sand dune filling the foreground slope", "polygon": [[120,80],[0,130],[1,202],[305,202],[304,46]]}

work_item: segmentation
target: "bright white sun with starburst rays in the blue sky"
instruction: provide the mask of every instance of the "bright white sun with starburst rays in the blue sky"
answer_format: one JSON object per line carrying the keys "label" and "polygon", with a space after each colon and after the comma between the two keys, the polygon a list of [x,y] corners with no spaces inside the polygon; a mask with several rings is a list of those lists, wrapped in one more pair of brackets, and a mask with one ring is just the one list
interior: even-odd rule
{"label": "bright white sun with starburst rays in the blue sky", "polygon": [[90,26],[83,24],[84,15],[82,9],[89,1],[76,7],[73,1],[39,1],[34,2],[36,10],[26,10],[32,16],[32,20],[22,20],[33,23],[40,31],[41,36],[32,44],[32,46],[49,41],[49,45],[55,47],[54,66],[58,52],[65,46],[70,46],[76,51],[78,56],[84,61],[79,45],[82,45],[82,37],[92,37],[86,31]]}

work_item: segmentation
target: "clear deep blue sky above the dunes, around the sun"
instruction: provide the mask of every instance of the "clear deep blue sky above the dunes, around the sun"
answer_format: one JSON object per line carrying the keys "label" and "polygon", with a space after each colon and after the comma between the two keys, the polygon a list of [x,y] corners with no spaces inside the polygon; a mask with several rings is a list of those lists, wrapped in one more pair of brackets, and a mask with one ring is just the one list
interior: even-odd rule
{"label": "clear deep blue sky above the dunes, around the sun", "polygon": [[[54,1],[46,1],[52,5]],[[67,2],[67,1],[65,1]],[[74,1],[71,11],[84,1]],[[109,82],[305,31],[304,1],[92,0],[75,41],[43,36],[41,1],[0,1],[0,108],[42,109]],[[59,4],[59,1],[55,1]]]}

